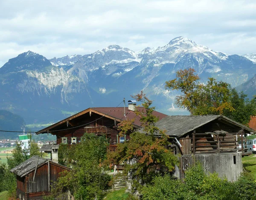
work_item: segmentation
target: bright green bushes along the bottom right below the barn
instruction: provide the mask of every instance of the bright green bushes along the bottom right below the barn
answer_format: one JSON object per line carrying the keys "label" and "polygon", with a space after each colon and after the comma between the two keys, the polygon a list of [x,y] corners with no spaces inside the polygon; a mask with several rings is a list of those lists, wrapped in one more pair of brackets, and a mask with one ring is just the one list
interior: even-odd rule
{"label": "bright green bushes along the bottom right below the barn", "polygon": [[142,189],[143,200],[256,200],[256,180],[242,174],[231,183],[217,173],[206,174],[200,163],[185,172],[185,179],[158,176]]}

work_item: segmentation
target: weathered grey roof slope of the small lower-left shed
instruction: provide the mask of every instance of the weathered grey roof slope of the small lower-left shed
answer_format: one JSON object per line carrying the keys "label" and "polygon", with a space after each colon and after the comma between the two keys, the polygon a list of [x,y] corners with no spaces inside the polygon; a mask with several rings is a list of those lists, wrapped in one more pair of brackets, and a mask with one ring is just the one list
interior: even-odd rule
{"label": "weathered grey roof slope of the small lower-left shed", "polygon": [[39,156],[32,156],[28,160],[20,163],[15,168],[11,169],[11,172],[17,174],[20,177],[23,177],[31,170],[35,169],[36,166],[43,164],[47,159]]}

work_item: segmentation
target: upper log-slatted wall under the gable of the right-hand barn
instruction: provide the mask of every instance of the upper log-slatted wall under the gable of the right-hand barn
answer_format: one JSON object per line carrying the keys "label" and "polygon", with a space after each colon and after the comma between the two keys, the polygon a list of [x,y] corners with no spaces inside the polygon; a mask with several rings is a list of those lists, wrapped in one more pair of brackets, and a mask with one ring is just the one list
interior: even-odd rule
{"label": "upper log-slatted wall under the gable of the right-hand barn", "polygon": [[239,127],[215,120],[179,138],[182,146],[180,153],[190,155],[243,151],[242,153],[246,155],[249,153],[246,148],[238,149],[238,142],[244,139],[245,134]]}

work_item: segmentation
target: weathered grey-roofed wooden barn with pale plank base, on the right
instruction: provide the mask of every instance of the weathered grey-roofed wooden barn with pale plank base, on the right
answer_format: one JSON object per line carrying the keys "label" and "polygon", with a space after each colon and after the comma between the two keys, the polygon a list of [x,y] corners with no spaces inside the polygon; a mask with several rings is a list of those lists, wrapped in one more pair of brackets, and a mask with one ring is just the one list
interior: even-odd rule
{"label": "weathered grey-roofed wooden barn with pale plank base, on the right", "polygon": [[[168,116],[156,123],[166,130],[181,154],[180,166],[175,176],[182,179],[184,171],[199,160],[205,171],[218,172],[220,177],[235,181],[242,171],[241,157],[249,155],[248,149],[238,148],[239,140],[256,131],[222,115]],[[157,133],[156,133],[157,134]]]}

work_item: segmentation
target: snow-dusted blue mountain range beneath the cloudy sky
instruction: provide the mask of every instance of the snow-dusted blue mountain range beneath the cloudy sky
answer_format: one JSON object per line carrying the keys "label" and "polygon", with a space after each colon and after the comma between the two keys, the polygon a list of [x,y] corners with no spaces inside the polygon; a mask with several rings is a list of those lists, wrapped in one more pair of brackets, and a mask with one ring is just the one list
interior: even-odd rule
{"label": "snow-dusted blue mountain range beneath the cloudy sky", "polygon": [[[252,54],[251,54],[252,55]],[[116,106],[140,90],[159,111],[178,114],[165,81],[179,69],[194,68],[201,81],[215,77],[232,84],[245,83],[256,74],[253,56],[228,55],[176,37],[156,49],[134,52],[111,45],[87,55],[47,60],[28,51],[0,68],[0,109],[20,114],[27,123],[61,120],[71,111],[91,106]]]}

